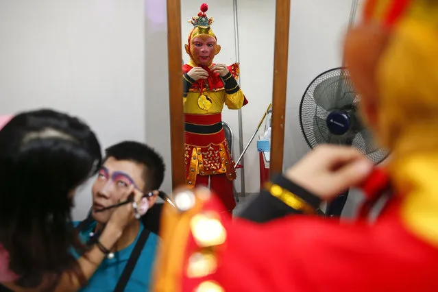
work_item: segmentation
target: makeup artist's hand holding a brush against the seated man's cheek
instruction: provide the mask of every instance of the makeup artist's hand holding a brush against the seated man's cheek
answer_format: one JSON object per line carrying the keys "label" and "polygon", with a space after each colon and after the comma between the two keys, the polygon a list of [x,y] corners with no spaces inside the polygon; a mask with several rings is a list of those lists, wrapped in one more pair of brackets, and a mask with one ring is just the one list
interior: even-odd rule
{"label": "makeup artist's hand holding a brush against the seated man's cheek", "polygon": [[[140,206],[143,193],[134,188],[134,185],[130,186],[127,189],[126,193],[121,197],[121,202],[130,199],[131,194],[134,194],[134,202],[137,203],[137,206]],[[121,228],[121,230],[123,230],[129,223],[134,220],[136,220],[135,210],[132,207],[132,203],[128,203],[123,206],[119,206],[116,208],[116,210],[114,210],[107,225],[115,226],[116,228]]]}

